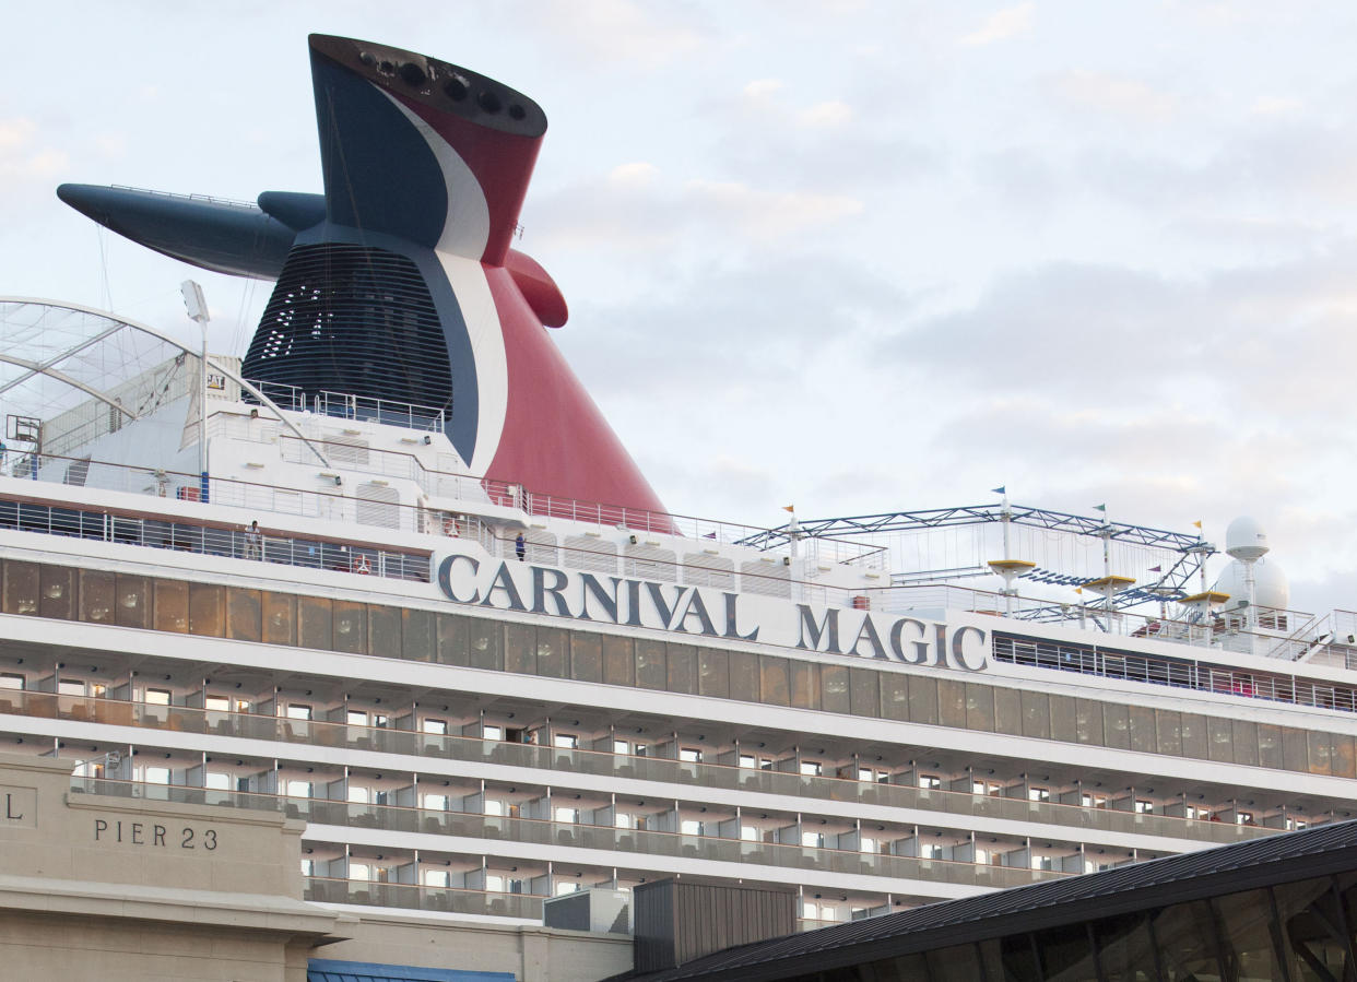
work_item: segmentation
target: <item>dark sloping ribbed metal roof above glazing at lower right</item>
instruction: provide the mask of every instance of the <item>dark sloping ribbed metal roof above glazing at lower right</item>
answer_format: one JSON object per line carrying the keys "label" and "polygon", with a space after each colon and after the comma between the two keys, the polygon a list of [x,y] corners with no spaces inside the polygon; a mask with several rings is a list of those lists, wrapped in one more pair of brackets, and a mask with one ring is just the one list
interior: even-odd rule
{"label": "dark sloping ribbed metal roof above glazing at lower right", "polygon": [[718,951],[616,982],[780,979],[1357,869],[1357,821],[1048,880]]}

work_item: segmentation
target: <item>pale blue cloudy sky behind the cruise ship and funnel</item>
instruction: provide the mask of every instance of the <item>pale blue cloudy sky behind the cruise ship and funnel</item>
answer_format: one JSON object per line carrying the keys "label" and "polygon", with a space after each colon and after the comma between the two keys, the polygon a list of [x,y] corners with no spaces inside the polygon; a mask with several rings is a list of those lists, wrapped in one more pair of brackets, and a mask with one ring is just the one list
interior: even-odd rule
{"label": "pale blue cloudy sky behind the cruise ship and funnel", "polygon": [[0,294],[243,353],[269,283],[159,256],[64,180],[319,191],[308,33],[421,52],[550,127],[517,247],[678,514],[996,500],[1258,518],[1357,608],[1357,4],[501,0],[5,12]]}

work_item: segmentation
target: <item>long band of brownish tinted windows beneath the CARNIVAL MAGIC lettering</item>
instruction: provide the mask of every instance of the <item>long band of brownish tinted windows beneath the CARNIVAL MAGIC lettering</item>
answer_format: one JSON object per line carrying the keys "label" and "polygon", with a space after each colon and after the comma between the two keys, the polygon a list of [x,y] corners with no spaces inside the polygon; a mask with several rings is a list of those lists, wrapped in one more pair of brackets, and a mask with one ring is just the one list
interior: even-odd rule
{"label": "long band of brownish tinted windows beneath the CARNIVAL MAGIC lettering", "polygon": [[[1357,777],[1357,741],[1248,719],[1016,690],[860,661],[726,651],[457,613],[0,560],[0,609],[693,693],[1140,753]],[[50,582],[49,582],[50,581]],[[87,581],[90,581],[87,583]],[[50,587],[50,589],[49,589]],[[58,595],[60,604],[49,602]],[[130,606],[129,606],[130,605]],[[261,633],[262,632],[262,633]],[[5,684],[16,685],[11,678]],[[506,728],[514,739],[525,731]],[[520,736],[521,739],[522,736]],[[839,776],[839,774],[836,774]]]}

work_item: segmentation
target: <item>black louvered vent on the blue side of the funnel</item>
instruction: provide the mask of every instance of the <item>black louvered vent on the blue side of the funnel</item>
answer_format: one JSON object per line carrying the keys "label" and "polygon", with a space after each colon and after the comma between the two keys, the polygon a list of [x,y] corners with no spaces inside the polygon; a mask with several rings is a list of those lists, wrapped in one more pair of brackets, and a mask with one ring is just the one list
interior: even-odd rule
{"label": "black louvered vent on the blue side of the funnel", "polygon": [[452,408],[452,369],[418,267],[387,250],[297,246],[242,372],[246,378]]}

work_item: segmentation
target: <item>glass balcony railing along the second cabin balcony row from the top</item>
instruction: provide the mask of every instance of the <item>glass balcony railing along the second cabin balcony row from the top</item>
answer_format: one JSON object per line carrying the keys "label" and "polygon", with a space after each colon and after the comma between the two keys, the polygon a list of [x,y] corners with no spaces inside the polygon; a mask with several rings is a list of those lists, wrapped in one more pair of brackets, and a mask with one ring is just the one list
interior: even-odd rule
{"label": "glass balcony railing along the second cabin balcony row from the top", "polygon": [[[597,849],[740,863],[779,869],[825,873],[921,879],[984,887],[1015,887],[1048,879],[1072,876],[1056,869],[996,865],[965,860],[921,859],[883,852],[790,845],[723,836],[695,836],[681,831],[624,829],[615,825],[588,825],[546,818],[510,818],[472,811],[421,808],[399,804],[335,802],[265,792],[216,791],[182,784],[121,781],[102,777],[72,777],[76,793],[111,798],[142,798],[182,804],[214,804],[232,808],[281,811],[308,823],[303,838],[324,841],[318,826],[379,829],[398,833],[425,833],[459,838],[508,840],[552,848]],[[750,871],[752,873],[752,871]]]}

